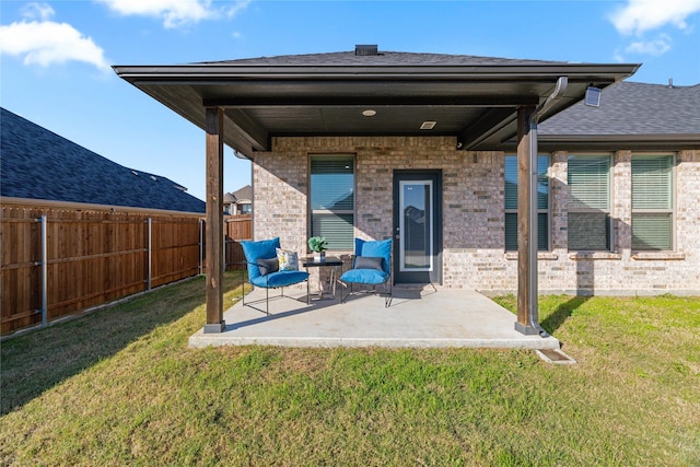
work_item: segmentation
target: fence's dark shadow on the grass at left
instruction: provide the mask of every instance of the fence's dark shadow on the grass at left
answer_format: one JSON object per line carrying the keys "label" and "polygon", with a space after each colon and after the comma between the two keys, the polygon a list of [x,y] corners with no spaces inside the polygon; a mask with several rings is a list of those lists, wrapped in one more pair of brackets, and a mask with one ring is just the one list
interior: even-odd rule
{"label": "fence's dark shadow on the grass at left", "polygon": [[[242,277],[240,271],[226,272],[224,291],[240,288]],[[2,341],[0,415],[114,355],[155,328],[178,320],[205,302],[205,278],[198,277]]]}

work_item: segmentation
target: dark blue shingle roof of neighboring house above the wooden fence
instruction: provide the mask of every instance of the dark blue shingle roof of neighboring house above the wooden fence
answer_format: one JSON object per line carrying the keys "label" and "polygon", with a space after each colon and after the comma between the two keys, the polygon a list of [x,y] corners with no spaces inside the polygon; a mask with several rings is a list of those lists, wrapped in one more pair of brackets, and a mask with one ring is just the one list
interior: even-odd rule
{"label": "dark blue shingle roof of neighboring house above the wooden fence", "polygon": [[206,212],[168,178],[112,162],[5,108],[0,117],[3,197]]}

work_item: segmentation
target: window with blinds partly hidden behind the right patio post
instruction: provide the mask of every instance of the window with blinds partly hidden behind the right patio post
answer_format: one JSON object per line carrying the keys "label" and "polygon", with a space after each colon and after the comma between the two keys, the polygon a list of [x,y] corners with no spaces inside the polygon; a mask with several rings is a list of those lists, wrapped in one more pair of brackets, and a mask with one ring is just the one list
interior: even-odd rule
{"label": "window with blinds partly hidden behind the right patio post", "polygon": [[[537,156],[537,249],[549,249],[549,156]],[[505,156],[505,250],[517,250],[517,155]]]}

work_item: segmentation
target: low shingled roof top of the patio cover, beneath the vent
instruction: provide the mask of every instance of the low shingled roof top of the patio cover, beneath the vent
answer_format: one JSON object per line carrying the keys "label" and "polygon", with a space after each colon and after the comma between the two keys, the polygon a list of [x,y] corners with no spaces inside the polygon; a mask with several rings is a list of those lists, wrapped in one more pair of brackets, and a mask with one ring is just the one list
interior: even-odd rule
{"label": "low shingled roof top of the patio cover, beneath the vent", "polygon": [[520,60],[498,57],[478,57],[472,55],[448,54],[418,54],[402,51],[380,50],[378,55],[355,55],[353,51],[337,51],[328,54],[282,55],[276,57],[244,58],[238,60],[209,61],[207,65],[226,66],[527,66],[556,65],[562,61]]}

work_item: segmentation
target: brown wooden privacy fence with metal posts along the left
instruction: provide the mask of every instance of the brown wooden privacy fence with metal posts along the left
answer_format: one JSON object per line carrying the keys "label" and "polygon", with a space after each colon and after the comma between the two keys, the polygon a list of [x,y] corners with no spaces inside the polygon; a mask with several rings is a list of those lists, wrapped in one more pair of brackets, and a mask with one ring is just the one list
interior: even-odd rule
{"label": "brown wooden privacy fence with metal posts along the left", "polygon": [[[250,217],[247,218],[249,232]],[[233,222],[225,225],[231,224]],[[241,230],[245,232],[244,224],[243,221],[235,223],[237,230],[225,232],[226,240]],[[202,273],[206,268],[203,229],[203,220],[198,214],[113,212],[3,202],[1,332],[46,324]],[[241,247],[232,241],[233,237],[226,258],[233,264]]]}

